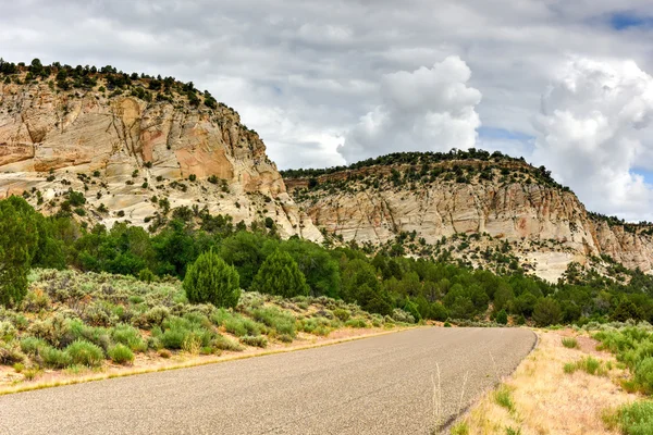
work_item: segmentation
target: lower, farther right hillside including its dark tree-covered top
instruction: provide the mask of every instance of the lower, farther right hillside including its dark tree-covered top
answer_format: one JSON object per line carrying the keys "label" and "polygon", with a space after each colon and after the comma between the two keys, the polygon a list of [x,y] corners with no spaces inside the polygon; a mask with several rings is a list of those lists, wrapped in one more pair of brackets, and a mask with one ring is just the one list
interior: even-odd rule
{"label": "lower, farther right hillside including its dark tree-covered top", "polygon": [[649,224],[589,213],[543,166],[498,152],[396,153],[283,175],[316,226],[370,251],[521,266],[550,281],[602,256],[653,269]]}

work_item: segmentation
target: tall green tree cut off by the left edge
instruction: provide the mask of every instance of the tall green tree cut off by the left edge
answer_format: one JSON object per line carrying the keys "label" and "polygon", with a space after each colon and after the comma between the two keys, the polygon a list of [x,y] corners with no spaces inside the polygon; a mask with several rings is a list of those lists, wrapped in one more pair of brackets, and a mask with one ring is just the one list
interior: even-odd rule
{"label": "tall green tree cut off by the left edge", "polygon": [[13,306],[27,294],[37,245],[34,209],[19,197],[0,201],[0,304]]}

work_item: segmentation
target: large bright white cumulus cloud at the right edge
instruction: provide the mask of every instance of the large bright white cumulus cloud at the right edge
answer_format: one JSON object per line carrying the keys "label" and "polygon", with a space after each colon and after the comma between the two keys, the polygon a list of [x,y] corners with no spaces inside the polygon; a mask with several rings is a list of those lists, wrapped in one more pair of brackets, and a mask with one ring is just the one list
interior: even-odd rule
{"label": "large bright white cumulus cloud at the right edge", "polygon": [[652,220],[653,77],[632,61],[575,58],[542,96],[533,160],[553,170],[590,210]]}

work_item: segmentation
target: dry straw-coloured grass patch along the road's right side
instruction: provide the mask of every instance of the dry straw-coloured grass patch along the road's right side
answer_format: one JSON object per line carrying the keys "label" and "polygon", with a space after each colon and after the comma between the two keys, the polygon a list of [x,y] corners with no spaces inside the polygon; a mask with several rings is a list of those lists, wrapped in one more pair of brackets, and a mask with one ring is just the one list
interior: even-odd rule
{"label": "dry straw-coloured grass patch along the road's right side", "polygon": [[[618,386],[624,372],[617,369],[608,371],[607,376],[583,371],[566,374],[565,363],[579,361],[590,352],[583,350],[586,346],[564,347],[560,338],[565,334],[568,332],[538,332],[538,348],[502,386],[510,391],[512,410],[506,407],[505,398],[497,400],[497,393],[490,391],[463,419],[470,435],[618,434],[605,427],[602,414],[605,409],[630,402],[637,396]],[[595,357],[596,353],[591,351]],[[597,359],[614,361],[612,355],[604,352],[599,353]]]}

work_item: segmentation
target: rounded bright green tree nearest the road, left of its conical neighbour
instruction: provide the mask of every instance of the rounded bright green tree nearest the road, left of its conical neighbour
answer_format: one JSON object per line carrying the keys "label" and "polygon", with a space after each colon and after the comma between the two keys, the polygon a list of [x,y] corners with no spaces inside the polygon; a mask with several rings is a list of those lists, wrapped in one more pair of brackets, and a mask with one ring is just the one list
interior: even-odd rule
{"label": "rounded bright green tree nearest the road, left of its conical neighbour", "polygon": [[238,272],[213,251],[200,254],[189,264],[184,290],[192,303],[210,302],[215,307],[235,307],[241,298]]}

